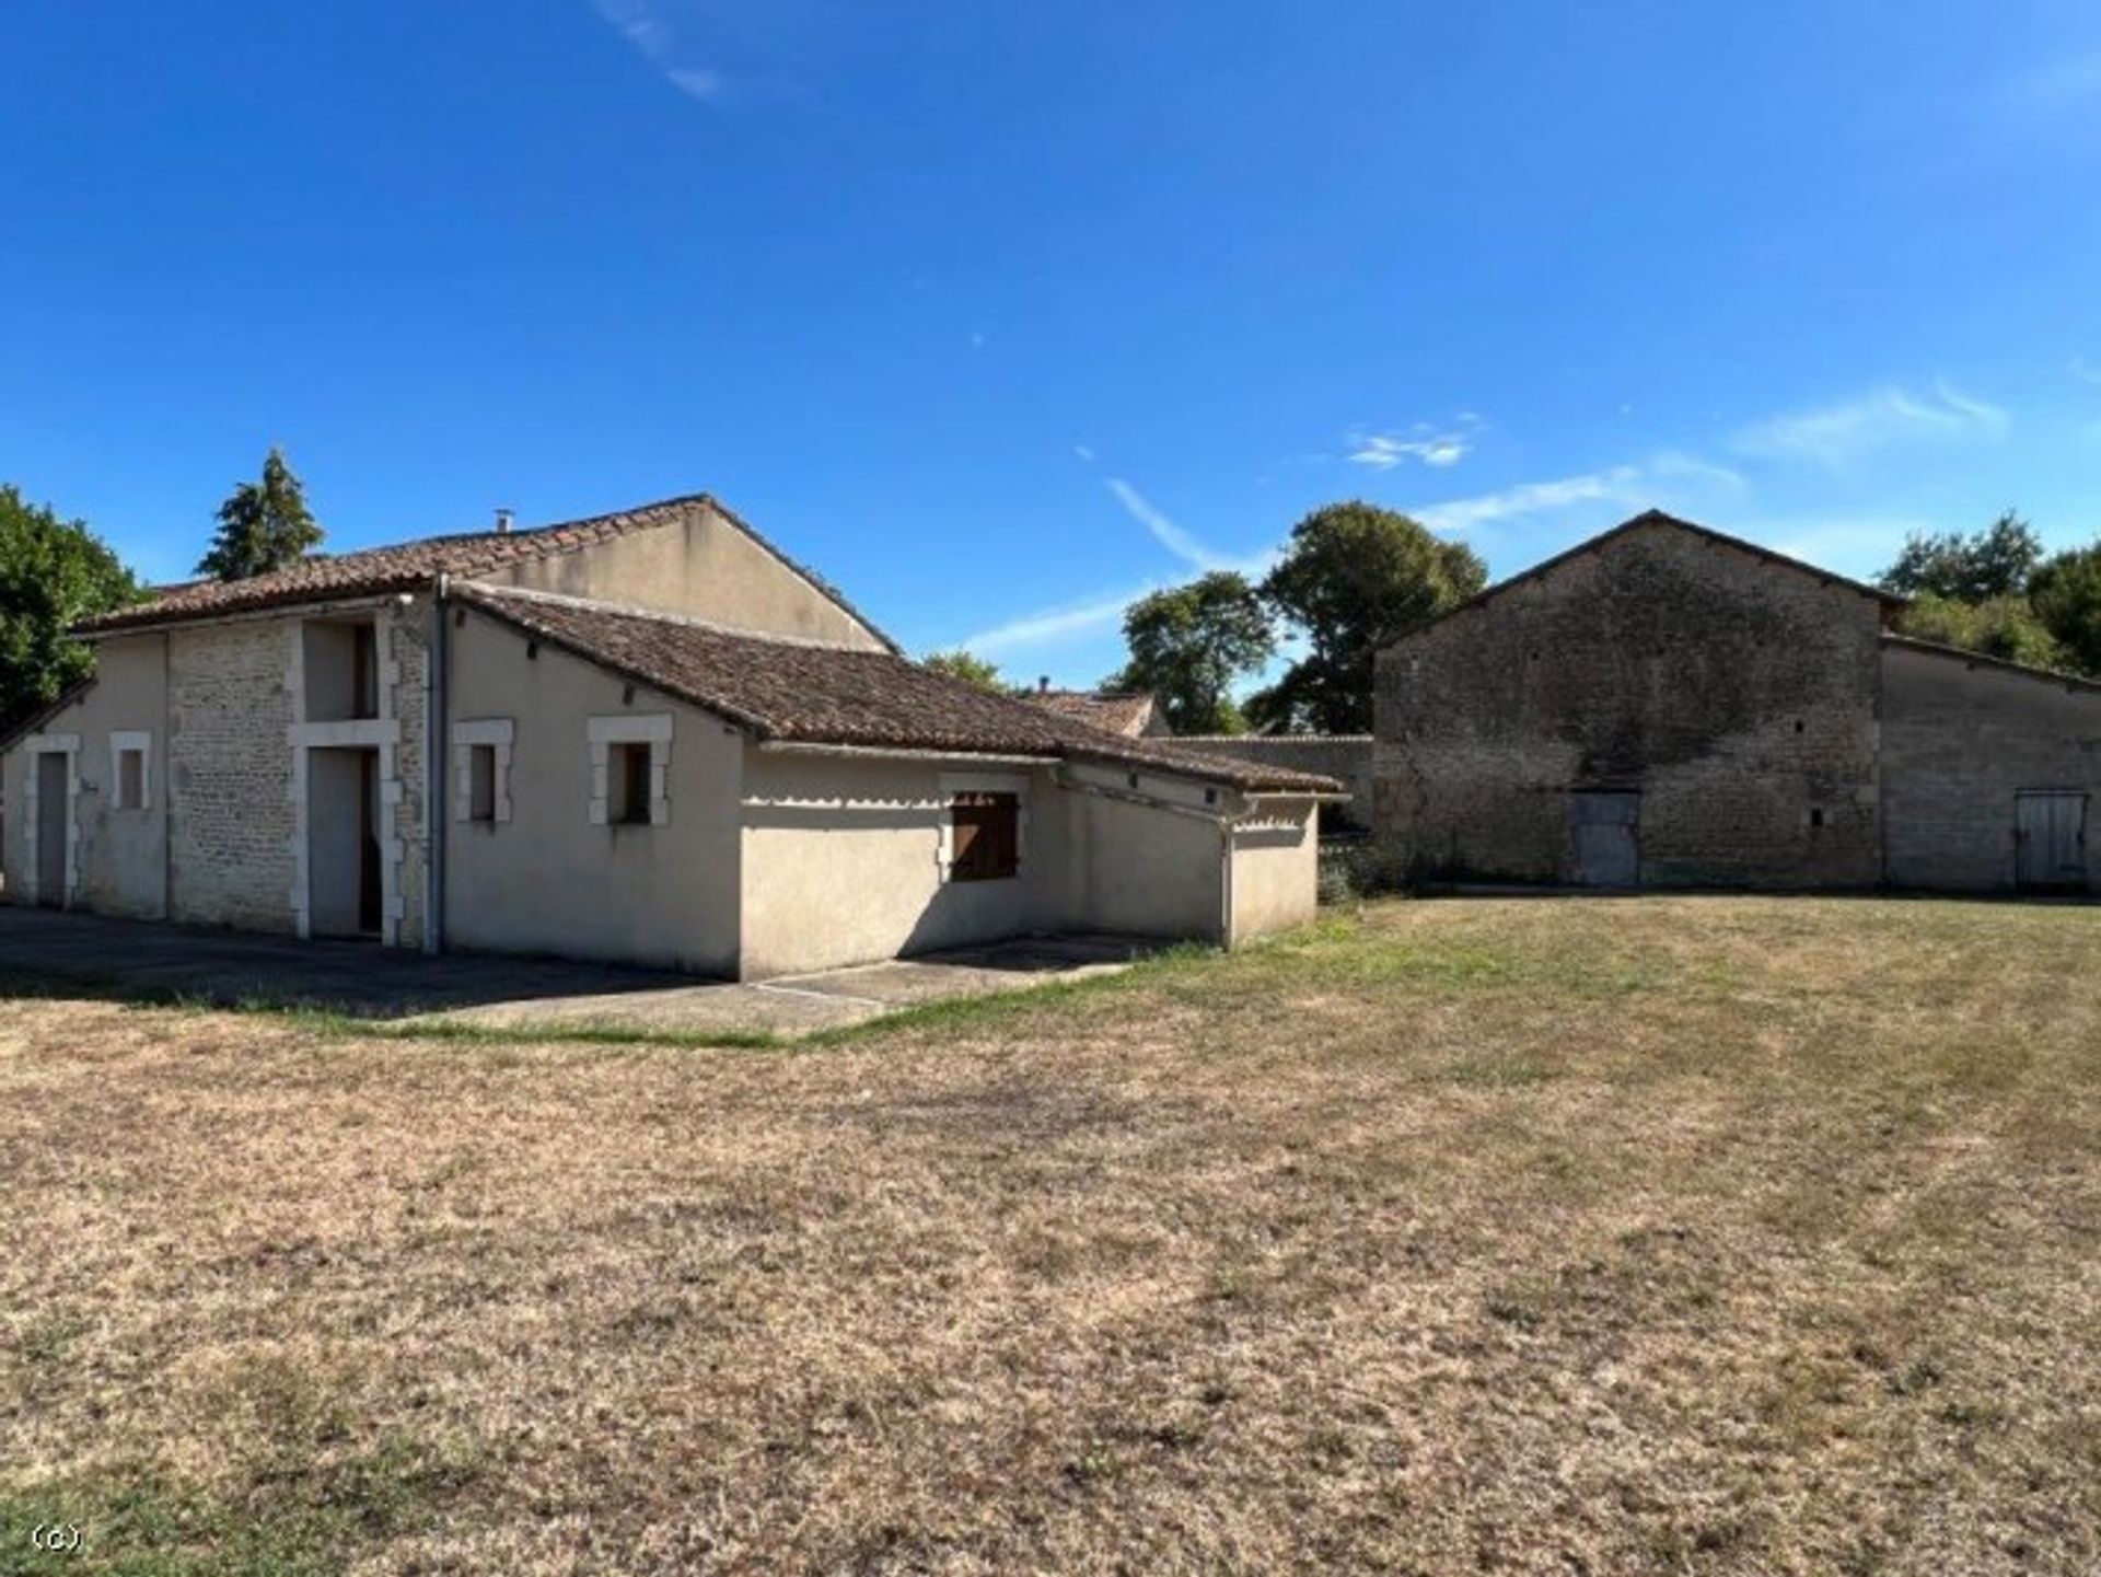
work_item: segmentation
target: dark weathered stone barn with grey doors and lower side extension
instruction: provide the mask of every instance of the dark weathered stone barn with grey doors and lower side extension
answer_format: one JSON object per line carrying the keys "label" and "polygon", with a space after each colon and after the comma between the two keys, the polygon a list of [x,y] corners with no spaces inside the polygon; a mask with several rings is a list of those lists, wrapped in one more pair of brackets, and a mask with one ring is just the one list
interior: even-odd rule
{"label": "dark weathered stone barn with grey doors and lower side extension", "polygon": [[1374,832],[1424,876],[2101,890],[2101,685],[1647,512],[1378,657]]}

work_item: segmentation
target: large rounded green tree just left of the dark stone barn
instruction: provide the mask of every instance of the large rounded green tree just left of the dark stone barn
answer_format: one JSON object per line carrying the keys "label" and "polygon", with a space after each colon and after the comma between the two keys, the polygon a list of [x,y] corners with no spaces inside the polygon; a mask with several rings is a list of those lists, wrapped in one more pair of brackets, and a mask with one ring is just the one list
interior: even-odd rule
{"label": "large rounded green tree just left of the dark stone barn", "polygon": [[1473,548],[1406,514],[1361,500],[1313,510],[1263,582],[1307,651],[1248,699],[1248,716],[1284,731],[1368,733],[1378,649],[1485,584]]}

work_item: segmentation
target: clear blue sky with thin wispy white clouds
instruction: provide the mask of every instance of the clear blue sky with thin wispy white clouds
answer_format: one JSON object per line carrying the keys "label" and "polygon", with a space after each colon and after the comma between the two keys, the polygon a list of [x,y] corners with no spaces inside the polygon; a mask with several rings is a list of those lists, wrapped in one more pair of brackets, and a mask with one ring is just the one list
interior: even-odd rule
{"label": "clear blue sky with thin wispy white clouds", "polygon": [[916,651],[1364,496],[2101,529],[2090,4],[513,0],[0,23],[0,479],[181,575],[721,493]]}

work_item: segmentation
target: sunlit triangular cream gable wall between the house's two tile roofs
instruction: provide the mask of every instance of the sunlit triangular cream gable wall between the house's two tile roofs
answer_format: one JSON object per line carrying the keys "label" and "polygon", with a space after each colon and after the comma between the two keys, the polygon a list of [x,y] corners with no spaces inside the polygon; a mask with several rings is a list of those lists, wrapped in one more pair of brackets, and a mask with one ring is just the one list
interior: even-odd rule
{"label": "sunlit triangular cream gable wall between the house's two tile roofs", "polygon": [[613,538],[586,552],[521,563],[485,580],[689,613],[735,630],[882,649],[866,624],[712,510]]}

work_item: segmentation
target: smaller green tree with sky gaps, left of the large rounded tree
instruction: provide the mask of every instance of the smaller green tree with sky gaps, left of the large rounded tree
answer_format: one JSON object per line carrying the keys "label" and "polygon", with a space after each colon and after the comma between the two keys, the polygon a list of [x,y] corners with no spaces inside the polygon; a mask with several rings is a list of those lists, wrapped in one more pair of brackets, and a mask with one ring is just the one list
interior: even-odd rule
{"label": "smaller green tree with sky gaps, left of the large rounded tree", "polygon": [[1151,691],[1174,733],[1246,733],[1233,680],[1277,649],[1261,594],[1231,569],[1141,596],[1124,609],[1124,640],[1130,661],[1103,689]]}

